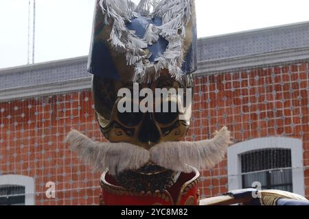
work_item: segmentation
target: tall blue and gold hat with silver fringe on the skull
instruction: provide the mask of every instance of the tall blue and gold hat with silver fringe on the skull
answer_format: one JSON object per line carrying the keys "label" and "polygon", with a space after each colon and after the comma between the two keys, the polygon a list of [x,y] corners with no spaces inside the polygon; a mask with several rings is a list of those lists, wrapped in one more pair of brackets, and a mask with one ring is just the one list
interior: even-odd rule
{"label": "tall blue and gold hat with silver fringe on the skull", "polygon": [[[136,2],[136,0],[133,0]],[[163,69],[180,81],[196,70],[194,0],[98,0],[88,71],[152,82]]]}

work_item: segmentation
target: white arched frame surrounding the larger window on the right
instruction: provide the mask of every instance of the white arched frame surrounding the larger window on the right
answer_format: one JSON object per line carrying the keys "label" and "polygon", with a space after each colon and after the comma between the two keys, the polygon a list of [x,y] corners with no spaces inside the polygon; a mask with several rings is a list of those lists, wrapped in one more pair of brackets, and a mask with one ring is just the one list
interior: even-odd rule
{"label": "white arched frame surrounding the larger window on the right", "polygon": [[229,146],[227,149],[227,172],[229,191],[242,188],[241,155],[260,149],[290,149],[292,161],[293,192],[305,195],[303,143],[297,138],[255,138]]}

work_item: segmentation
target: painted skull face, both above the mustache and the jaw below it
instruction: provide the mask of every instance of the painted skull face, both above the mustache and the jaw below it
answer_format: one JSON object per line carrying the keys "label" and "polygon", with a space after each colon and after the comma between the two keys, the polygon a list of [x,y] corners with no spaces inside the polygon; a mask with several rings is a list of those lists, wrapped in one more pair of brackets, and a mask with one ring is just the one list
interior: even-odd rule
{"label": "painted skull face, both above the mustache and the jaw below it", "polygon": [[[150,88],[155,94],[156,88],[193,88],[193,76],[184,76],[181,82],[172,79],[170,75],[161,73],[157,81],[141,83],[139,89]],[[176,112],[124,112],[118,110],[121,97],[117,97],[120,88],[133,90],[132,81],[115,81],[93,77],[93,97],[95,100],[95,115],[104,137],[110,142],[128,142],[144,149],[150,149],[161,142],[183,140],[190,126],[190,119],[180,120],[181,113]],[[133,92],[133,91],[132,91]],[[185,96],[185,95],[184,95]],[[154,97],[154,105],[163,105],[168,101],[169,109],[174,99],[159,99]],[[139,101],[138,101],[139,102]],[[131,105],[139,105],[133,99]],[[176,103],[175,103],[176,104]],[[163,106],[161,106],[163,107]],[[155,108],[155,107],[154,107]],[[134,192],[146,190],[162,190],[173,185],[179,177],[179,172],[166,170],[149,161],[139,170],[127,170],[116,176],[120,185]]]}

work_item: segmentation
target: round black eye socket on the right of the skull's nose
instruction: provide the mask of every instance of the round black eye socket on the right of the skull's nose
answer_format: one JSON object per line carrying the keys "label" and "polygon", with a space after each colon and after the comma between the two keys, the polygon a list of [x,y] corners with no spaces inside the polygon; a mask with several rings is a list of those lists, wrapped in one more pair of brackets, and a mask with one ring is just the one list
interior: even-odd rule
{"label": "round black eye socket on the right of the skull's nose", "polygon": [[[176,112],[174,112],[174,110],[172,111],[172,103],[175,104],[174,108],[176,106]],[[161,112],[155,112],[155,120],[163,125],[174,122],[174,120],[176,120],[179,116],[179,110],[176,103],[168,101],[168,112],[166,112],[166,110],[163,111],[163,106],[164,104],[162,103]]]}

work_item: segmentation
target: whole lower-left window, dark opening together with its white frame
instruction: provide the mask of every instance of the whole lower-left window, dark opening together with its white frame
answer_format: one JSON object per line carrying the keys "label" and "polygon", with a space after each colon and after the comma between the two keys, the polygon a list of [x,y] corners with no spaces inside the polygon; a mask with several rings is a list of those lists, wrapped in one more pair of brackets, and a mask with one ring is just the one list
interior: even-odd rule
{"label": "whole lower-left window, dark opening together with its white frame", "polygon": [[34,179],[21,175],[0,176],[0,205],[35,205]]}

